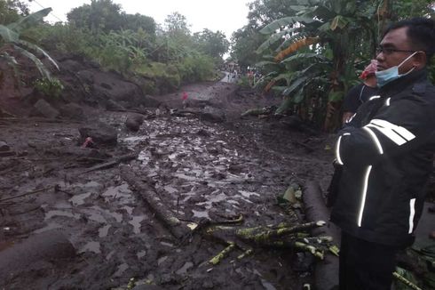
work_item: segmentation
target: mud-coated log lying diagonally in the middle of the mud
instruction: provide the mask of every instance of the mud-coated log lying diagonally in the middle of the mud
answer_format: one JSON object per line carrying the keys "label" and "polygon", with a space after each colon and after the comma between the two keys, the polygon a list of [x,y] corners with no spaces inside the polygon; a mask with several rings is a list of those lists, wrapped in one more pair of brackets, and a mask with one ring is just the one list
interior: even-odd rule
{"label": "mud-coated log lying diagonally in the middle of the mud", "polygon": [[138,177],[127,166],[121,168],[121,176],[124,181],[127,181],[127,183],[138,192],[140,197],[144,199],[146,204],[154,212],[155,217],[162,222],[168,230],[170,230],[170,233],[175,238],[182,238],[191,232],[191,230],[186,226],[186,223],[178,220],[174,213],[164,205],[162,199],[157,195],[155,190],[147,182],[142,181],[143,177]]}

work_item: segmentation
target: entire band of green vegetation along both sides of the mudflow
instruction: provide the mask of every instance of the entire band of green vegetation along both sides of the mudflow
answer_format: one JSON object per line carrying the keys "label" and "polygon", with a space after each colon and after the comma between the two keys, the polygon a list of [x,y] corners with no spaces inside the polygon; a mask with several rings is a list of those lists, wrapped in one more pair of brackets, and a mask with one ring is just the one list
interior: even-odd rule
{"label": "entire band of green vegetation along both sides of the mudflow", "polygon": [[[233,33],[231,59],[243,70],[261,71],[258,89],[283,98],[277,113],[291,110],[330,130],[338,125],[345,93],[376,57],[388,23],[433,17],[434,10],[431,0],[253,0],[248,24]],[[16,60],[5,49],[12,45],[46,79],[49,70],[38,57],[61,52],[82,55],[124,77],[146,77],[146,93],[157,93],[159,85],[175,90],[216,77],[230,45],[220,31],[193,34],[178,12],[161,26],[146,15],[123,12],[112,0],[76,7],[66,23],[44,23],[48,12],[28,16],[23,2],[0,0],[0,56],[13,66]]]}

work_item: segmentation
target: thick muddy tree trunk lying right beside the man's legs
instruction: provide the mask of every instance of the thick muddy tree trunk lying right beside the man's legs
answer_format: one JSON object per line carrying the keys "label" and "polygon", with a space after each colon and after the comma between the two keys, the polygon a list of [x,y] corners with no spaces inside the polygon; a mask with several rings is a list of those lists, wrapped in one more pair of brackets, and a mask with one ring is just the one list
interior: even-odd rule
{"label": "thick muddy tree trunk lying right beside the man's legs", "polygon": [[[316,181],[307,181],[303,194],[306,219],[308,222],[329,221],[329,211],[322,196],[320,185]],[[312,229],[313,236],[329,236],[334,244],[340,243],[340,233],[330,222],[325,227]],[[327,254],[323,261],[317,261],[315,267],[315,288],[330,290],[338,285],[338,257]]]}

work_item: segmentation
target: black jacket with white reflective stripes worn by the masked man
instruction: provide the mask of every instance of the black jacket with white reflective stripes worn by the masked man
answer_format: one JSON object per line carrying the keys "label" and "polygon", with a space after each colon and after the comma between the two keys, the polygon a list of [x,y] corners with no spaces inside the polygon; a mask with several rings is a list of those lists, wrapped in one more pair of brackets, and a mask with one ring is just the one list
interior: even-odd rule
{"label": "black jacket with white reflective stripes worn by the masked man", "polygon": [[339,133],[343,165],[331,221],[369,242],[407,246],[432,171],[435,88],[425,69],[393,81]]}

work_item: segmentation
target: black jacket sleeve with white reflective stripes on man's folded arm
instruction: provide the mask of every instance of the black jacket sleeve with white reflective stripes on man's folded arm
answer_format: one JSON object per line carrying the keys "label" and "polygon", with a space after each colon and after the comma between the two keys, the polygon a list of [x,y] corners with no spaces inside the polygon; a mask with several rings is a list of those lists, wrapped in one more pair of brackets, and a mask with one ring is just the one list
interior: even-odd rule
{"label": "black jacket sleeve with white reflective stripes on man's folded arm", "polygon": [[434,101],[426,99],[415,95],[397,101],[387,99],[367,125],[344,127],[336,143],[337,162],[373,165],[429,141],[435,128],[435,106]]}

